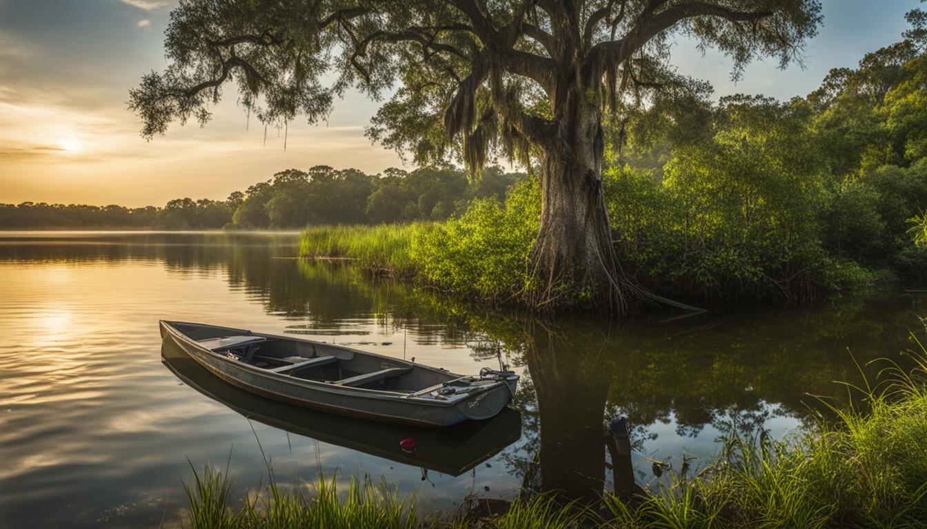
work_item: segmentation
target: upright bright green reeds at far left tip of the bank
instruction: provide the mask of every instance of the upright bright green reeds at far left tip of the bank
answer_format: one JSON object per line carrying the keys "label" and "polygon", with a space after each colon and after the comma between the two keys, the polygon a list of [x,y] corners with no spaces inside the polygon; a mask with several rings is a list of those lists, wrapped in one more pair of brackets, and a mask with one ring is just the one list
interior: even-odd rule
{"label": "upright bright green reeds at far left tip of the bank", "polygon": [[366,271],[412,277],[413,236],[427,224],[376,226],[313,226],[302,233],[299,255],[306,258],[348,258]]}

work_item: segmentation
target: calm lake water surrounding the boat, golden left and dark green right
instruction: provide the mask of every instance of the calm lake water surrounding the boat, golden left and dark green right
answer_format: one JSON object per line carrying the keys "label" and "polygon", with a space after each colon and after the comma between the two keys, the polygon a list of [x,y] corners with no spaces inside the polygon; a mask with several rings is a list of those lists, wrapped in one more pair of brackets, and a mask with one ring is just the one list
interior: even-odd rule
{"label": "calm lake water surrounding the boat, golden left and dark green right", "polygon": [[[179,526],[187,459],[228,464],[238,498],[266,479],[264,457],[299,486],[319,472],[385,476],[425,512],[522,485],[590,497],[612,484],[602,432],[619,415],[638,483],[653,485],[648,458],[705,460],[730,428],[781,436],[822,409],[809,396],[844,403],[832,381],[861,381],[854,357],[902,359],[927,316],[927,296],[893,292],[811,309],[538,319],[305,262],[297,243],[0,232],[0,526]],[[516,410],[494,422],[357,422],[218,383],[162,351],[159,319],[300,334],[451,372],[501,357],[523,378]],[[400,450],[407,436],[416,453]]]}

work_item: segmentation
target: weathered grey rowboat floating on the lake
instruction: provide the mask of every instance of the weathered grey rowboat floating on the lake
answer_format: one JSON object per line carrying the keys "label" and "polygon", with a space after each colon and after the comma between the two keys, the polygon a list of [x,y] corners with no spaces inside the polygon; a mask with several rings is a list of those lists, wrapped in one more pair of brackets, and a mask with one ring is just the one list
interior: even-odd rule
{"label": "weathered grey rowboat floating on the lake", "polygon": [[383,422],[451,426],[485,420],[514,397],[518,375],[464,376],[414,361],[276,334],[159,321],[170,340],[227,383],[263,397]]}

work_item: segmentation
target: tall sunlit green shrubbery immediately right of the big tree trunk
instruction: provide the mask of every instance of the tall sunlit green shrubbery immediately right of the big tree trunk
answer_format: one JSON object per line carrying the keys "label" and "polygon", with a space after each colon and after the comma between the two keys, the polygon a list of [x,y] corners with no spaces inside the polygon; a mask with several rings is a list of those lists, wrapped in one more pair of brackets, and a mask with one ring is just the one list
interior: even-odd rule
{"label": "tall sunlit green shrubbery immediately right of the big tree trunk", "polygon": [[807,112],[796,102],[724,98],[708,137],[676,148],[662,176],[607,170],[616,243],[636,275],[669,296],[799,302],[840,283],[819,244],[828,194]]}

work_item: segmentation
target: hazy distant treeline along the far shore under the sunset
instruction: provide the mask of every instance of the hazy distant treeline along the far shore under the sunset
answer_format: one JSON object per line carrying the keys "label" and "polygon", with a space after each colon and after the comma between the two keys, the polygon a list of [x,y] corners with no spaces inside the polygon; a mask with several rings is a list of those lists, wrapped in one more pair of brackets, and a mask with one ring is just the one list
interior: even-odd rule
{"label": "hazy distant treeline along the far shore under the sunset", "polygon": [[495,167],[479,179],[463,170],[284,170],[225,200],[177,198],[163,208],[23,202],[0,204],[0,229],[286,229],[317,224],[447,220],[474,198],[502,200],[524,178]]}

